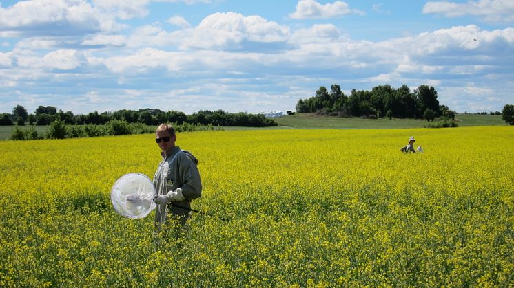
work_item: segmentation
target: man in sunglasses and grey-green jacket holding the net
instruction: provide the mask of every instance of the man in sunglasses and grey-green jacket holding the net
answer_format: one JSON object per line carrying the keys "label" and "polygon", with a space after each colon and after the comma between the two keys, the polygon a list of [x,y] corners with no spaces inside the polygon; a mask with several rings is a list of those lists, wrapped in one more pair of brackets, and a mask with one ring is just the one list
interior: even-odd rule
{"label": "man in sunglasses and grey-green jacket holding the net", "polygon": [[175,146],[176,133],[169,124],[161,124],[155,131],[155,141],[161,148],[163,161],[159,163],[154,175],[157,191],[154,202],[156,232],[163,223],[175,222],[178,231],[182,230],[191,209],[192,199],[201,197],[202,182],[196,167],[198,159],[189,151]]}

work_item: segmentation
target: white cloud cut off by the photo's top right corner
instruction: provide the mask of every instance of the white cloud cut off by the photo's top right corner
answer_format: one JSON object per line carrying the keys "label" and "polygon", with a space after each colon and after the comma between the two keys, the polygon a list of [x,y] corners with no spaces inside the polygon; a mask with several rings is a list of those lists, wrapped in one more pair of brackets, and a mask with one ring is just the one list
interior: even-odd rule
{"label": "white cloud cut off by the photo's top right corner", "polygon": [[446,17],[483,16],[486,21],[514,21],[514,1],[479,0],[466,3],[429,1],[424,5],[423,13],[442,14]]}

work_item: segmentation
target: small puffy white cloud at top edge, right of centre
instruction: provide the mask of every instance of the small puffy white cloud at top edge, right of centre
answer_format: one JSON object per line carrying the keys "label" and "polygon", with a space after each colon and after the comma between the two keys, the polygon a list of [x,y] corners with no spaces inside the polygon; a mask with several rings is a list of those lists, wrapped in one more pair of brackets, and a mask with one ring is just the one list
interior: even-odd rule
{"label": "small puffy white cloud at top edge, right of centre", "polygon": [[321,5],[314,0],[300,0],[296,4],[296,11],[289,16],[291,19],[325,19],[347,14],[364,14],[356,9],[350,9],[349,5],[342,1]]}

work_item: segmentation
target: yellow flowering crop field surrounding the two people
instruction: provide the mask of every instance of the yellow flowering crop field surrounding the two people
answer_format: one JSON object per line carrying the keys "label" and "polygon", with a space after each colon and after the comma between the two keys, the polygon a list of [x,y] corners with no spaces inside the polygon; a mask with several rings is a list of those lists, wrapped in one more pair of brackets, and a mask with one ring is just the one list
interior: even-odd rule
{"label": "yellow flowering crop field surrounding the two people", "polygon": [[[409,136],[425,153],[403,155]],[[152,177],[154,135],[0,142],[0,286],[514,285],[514,130],[179,133],[203,197],[156,249],[153,212],[110,188]]]}

